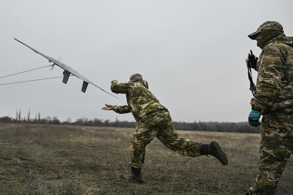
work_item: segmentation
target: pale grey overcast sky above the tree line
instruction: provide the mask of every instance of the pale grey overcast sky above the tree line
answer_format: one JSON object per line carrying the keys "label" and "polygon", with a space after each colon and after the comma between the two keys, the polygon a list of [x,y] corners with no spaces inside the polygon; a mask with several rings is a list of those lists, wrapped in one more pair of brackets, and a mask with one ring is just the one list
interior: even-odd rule
{"label": "pale grey overcast sky above the tree line", "polygon": [[[293,36],[292,0],[0,0],[0,77],[49,65],[13,38],[61,61],[110,90],[113,79],[142,74],[175,121],[246,121],[250,111],[245,59],[261,50],[247,35],[266,21]],[[0,84],[62,76],[55,67],[0,79]],[[256,80],[256,72],[253,72]],[[134,121],[102,110],[125,105],[70,77],[0,86],[0,116],[31,115]]]}

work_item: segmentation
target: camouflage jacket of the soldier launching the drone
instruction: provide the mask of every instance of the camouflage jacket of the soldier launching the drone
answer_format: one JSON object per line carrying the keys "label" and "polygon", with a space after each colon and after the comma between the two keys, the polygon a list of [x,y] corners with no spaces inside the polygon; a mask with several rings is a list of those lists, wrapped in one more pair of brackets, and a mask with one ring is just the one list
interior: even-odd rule
{"label": "camouflage jacket of the soldier launching the drone", "polygon": [[111,90],[114,93],[125,93],[128,104],[125,106],[114,106],[113,110],[120,114],[131,112],[136,122],[158,111],[168,112],[168,109],[163,107],[148,89],[146,81],[128,83],[113,81]]}

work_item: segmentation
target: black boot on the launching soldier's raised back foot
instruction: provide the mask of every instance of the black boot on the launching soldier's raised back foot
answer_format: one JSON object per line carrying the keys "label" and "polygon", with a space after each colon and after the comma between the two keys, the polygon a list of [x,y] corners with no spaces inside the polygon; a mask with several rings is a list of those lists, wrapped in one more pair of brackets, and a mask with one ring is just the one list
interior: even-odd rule
{"label": "black boot on the launching soldier's raised back foot", "polygon": [[228,164],[228,159],[225,152],[221,149],[220,145],[216,141],[211,141],[209,144],[201,144],[200,146],[201,155],[210,154],[217,158],[222,165]]}

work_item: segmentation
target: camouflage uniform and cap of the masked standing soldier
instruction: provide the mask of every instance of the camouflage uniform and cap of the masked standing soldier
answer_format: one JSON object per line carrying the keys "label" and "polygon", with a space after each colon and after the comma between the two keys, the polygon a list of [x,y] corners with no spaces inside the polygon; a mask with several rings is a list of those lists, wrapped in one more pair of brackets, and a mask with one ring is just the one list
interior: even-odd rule
{"label": "camouflage uniform and cap of the masked standing soldier", "polygon": [[293,38],[286,37],[281,24],[270,21],[248,37],[261,37],[264,30],[269,38],[263,36],[264,45],[258,44],[263,50],[257,61],[256,95],[250,102],[263,115],[259,172],[249,195],[273,195],[293,151]]}

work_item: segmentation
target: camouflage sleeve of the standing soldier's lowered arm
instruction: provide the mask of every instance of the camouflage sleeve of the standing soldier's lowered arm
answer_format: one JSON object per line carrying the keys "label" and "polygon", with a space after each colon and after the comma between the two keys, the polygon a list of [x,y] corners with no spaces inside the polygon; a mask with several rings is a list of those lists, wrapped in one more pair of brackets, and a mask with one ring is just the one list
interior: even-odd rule
{"label": "camouflage sleeve of the standing soldier's lowered arm", "polygon": [[254,109],[266,111],[281,90],[283,74],[283,55],[276,45],[269,44],[264,48],[262,62],[258,68],[258,86],[256,95],[251,99]]}

